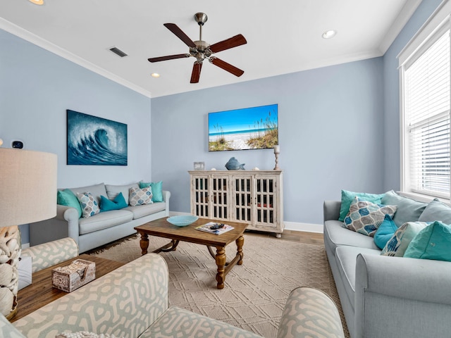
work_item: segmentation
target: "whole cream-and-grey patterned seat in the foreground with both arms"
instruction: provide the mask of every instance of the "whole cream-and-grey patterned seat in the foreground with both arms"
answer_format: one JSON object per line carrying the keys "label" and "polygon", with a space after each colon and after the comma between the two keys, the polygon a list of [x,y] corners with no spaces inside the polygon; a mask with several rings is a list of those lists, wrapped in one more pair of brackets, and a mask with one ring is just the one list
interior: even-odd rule
{"label": "whole cream-and-grey patterned seat in the foreground with both arms", "polygon": [[[156,253],[141,256],[12,324],[0,315],[0,337],[54,338],[63,332],[127,338],[260,337],[183,308],[169,307],[168,266]],[[335,303],[319,290],[299,287],[288,296],[278,338],[307,335],[344,337]]]}

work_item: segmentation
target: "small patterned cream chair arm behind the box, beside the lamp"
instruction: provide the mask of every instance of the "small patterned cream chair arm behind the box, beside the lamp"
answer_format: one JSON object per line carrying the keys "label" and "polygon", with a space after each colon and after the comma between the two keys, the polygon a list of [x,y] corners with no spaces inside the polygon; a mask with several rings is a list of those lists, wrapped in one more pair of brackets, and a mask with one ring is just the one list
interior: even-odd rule
{"label": "small patterned cream chair arm behind the box, beside the lamp", "polygon": [[78,246],[70,238],[57,239],[53,242],[30,246],[22,250],[22,256],[32,258],[32,272],[36,273],[49,266],[56,265],[78,256]]}

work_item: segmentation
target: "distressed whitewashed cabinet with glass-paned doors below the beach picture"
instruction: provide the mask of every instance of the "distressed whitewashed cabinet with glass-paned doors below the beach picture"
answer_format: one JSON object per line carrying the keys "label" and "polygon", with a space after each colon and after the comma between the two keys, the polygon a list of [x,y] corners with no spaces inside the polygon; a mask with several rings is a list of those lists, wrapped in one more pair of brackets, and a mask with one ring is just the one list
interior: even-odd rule
{"label": "distressed whitewashed cabinet with glass-paned doors below the beach picture", "polygon": [[247,223],[248,230],[283,232],[281,170],[193,170],[191,213]]}

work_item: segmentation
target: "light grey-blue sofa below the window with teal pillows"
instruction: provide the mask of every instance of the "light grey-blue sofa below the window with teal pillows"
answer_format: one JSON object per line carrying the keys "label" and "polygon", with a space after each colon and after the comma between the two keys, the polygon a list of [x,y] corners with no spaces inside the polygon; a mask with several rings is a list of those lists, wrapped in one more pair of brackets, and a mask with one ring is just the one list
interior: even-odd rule
{"label": "light grey-blue sofa below the window with teal pillows", "polygon": [[[378,203],[397,206],[392,220],[397,236],[390,237],[383,249],[374,237],[343,226],[339,220],[343,199],[323,205],[324,245],[350,336],[451,337],[451,263],[435,260],[440,258],[409,258],[413,255],[408,251],[412,252],[419,240],[410,238],[407,245],[400,237],[407,233],[402,230],[416,225],[425,229],[440,225],[437,220],[451,224],[451,208],[436,199],[422,203],[393,191],[380,197]],[[431,241],[426,244],[432,249],[435,246]],[[383,256],[390,248],[402,246],[404,256],[397,254],[399,251]]]}

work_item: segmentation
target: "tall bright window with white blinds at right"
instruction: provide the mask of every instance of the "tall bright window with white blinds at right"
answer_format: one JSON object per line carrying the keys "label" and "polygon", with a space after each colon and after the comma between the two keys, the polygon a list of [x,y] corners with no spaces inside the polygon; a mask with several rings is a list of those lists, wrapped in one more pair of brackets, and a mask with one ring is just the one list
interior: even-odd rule
{"label": "tall bright window with white blinds at right", "polygon": [[[448,12],[449,13],[449,12]],[[418,40],[417,34],[414,39]],[[415,42],[415,41],[414,41]],[[400,54],[402,191],[445,199],[450,172],[450,24],[435,25]],[[414,50],[414,51],[412,51]]]}

